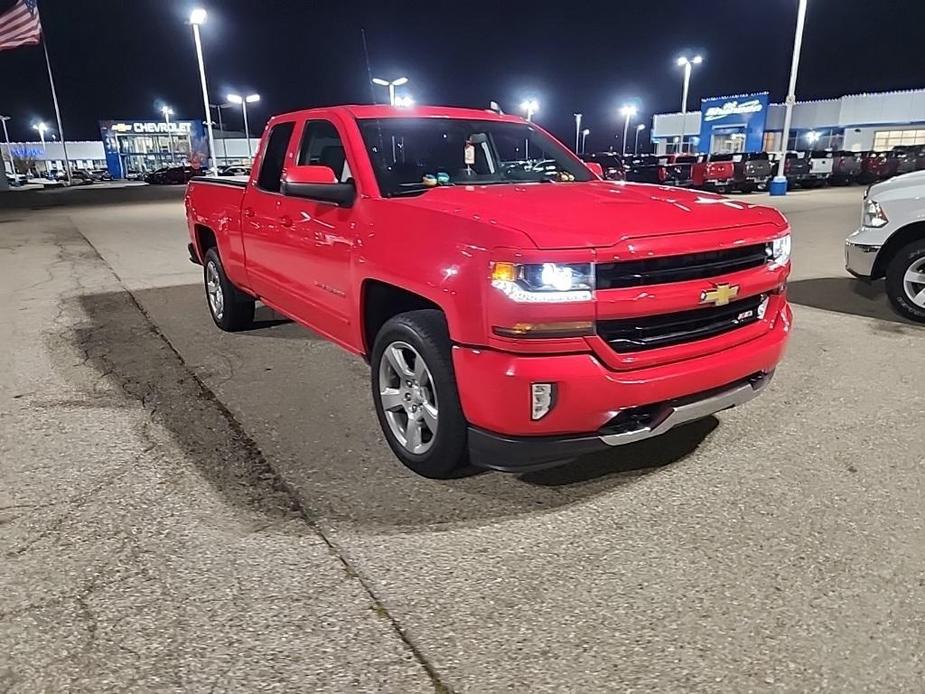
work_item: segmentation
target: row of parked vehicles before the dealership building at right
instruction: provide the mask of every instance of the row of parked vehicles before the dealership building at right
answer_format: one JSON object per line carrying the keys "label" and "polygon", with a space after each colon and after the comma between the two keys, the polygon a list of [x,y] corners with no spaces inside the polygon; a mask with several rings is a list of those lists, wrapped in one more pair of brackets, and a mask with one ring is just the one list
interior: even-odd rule
{"label": "row of parked vehicles before the dealership building at right", "polygon": [[[740,152],[624,157],[600,152],[582,158],[600,164],[604,177],[610,180],[749,193],[767,188],[777,173],[781,156],[780,152]],[[783,156],[784,175],[791,188],[869,185],[925,170],[925,147],[896,147],[889,152],[814,150],[787,152]]]}

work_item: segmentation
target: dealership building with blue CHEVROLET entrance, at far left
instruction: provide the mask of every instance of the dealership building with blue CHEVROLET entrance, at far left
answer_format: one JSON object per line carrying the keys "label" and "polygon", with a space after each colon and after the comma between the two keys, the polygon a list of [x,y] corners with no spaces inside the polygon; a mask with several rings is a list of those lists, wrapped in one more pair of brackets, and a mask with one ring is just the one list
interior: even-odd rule
{"label": "dealership building with blue CHEVROLET entrance, at far left", "polygon": [[[202,121],[105,120],[100,121],[100,140],[68,141],[67,153],[75,169],[108,169],[113,178],[146,173],[163,166],[189,164],[205,166],[208,140]],[[251,160],[248,143],[240,132],[214,130],[216,163],[247,164]],[[251,152],[259,139],[251,138]],[[64,171],[64,147],[60,142],[0,143],[3,164],[8,172],[13,164],[28,168],[39,176]]]}

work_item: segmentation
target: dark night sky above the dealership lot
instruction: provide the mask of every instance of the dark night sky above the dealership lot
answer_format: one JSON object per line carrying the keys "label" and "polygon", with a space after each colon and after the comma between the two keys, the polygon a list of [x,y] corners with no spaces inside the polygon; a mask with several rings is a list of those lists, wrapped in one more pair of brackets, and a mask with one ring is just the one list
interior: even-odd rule
{"label": "dark night sky above the dealership lot", "polygon": [[[12,5],[0,0],[0,11]],[[202,118],[190,28],[195,0],[40,0],[68,139],[98,139],[101,119]],[[536,120],[566,142],[575,111],[589,149],[617,144],[619,106],[651,114],[680,107],[674,59],[700,52],[691,108],[704,96],[768,90],[783,100],[797,0],[658,2],[360,2],[203,0],[213,103],[228,90],[257,91],[257,132],[273,114],[369,103],[360,29],[374,75],[407,75],[419,103],[516,110],[527,96]],[[798,98],[925,87],[922,0],[810,0]],[[385,92],[376,88],[375,98]],[[0,52],[0,113],[11,136],[54,121],[41,48]],[[230,126],[240,128],[239,117]]]}

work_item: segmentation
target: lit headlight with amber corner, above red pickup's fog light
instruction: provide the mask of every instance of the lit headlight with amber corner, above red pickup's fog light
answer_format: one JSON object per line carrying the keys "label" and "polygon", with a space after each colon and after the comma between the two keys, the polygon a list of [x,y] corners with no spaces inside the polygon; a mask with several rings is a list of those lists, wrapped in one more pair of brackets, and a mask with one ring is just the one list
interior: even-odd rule
{"label": "lit headlight with amber corner, above red pickup's fog light", "polygon": [[594,290],[591,263],[492,263],[491,286],[513,301],[590,301]]}

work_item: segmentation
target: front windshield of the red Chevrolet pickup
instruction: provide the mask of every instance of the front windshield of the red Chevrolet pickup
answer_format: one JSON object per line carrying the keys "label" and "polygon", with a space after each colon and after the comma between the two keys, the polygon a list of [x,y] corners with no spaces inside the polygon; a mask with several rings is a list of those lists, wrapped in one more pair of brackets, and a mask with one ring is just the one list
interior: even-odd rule
{"label": "front windshield of the red Chevrolet pickup", "polygon": [[359,124],[386,197],[438,186],[594,179],[561,145],[526,123],[382,118]]}

